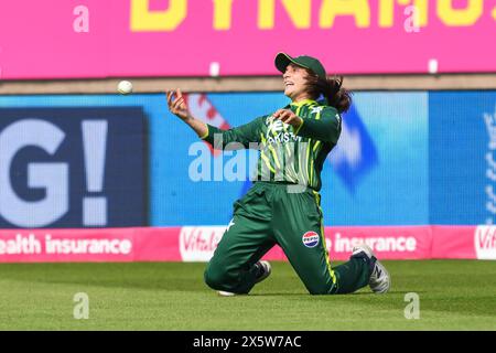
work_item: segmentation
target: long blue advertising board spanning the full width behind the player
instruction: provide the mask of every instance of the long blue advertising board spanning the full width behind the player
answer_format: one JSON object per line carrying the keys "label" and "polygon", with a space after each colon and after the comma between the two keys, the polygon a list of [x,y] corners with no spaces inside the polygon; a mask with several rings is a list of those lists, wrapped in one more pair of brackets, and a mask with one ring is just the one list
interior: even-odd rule
{"label": "long blue advertising board spanning the full width behind the player", "polygon": [[[353,97],[338,145],[322,171],[326,225],[492,222],[496,214],[495,92],[368,92]],[[226,129],[288,104],[281,93],[191,94],[187,99],[205,121]],[[9,168],[9,178],[14,180],[12,193],[25,202],[35,202],[47,192],[40,186],[46,181],[36,176],[40,167],[30,163],[69,161],[69,211],[50,226],[91,226],[91,222],[85,223],[82,210],[85,197],[98,196],[108,197],[107,207],[115,211],[108,213],[106,226],[227,224],[233,203],[251,185],[249,167],[257,152],[214,153],[168,111],[161,94],[3,96],[0,108],[12,114],[23,111],[10,120],[2,113],[0,133],[12,121],[30,117],[51,122],[65,133],[56,152],[22,148]],[[91,114],[85,114],[85,108]],[[48,113],[43,115],[44,109]],[[65,113],[50,113],[57,110]],[[82,121],[107,119],[112,111],[117,111],[116,119],[108,120],[107,138],[110,141],[112,136],[121,136],[122,141],[115,150],[107,141],[103,191],[94,192],[87,185],[90,176]],[[129,121],[122,118],[126,113]],[[209,157],[211,180],[192,176],[198,153]],[[246,160],[246,171],[240,173],[242,178],[229,180],[226,165],[240,156]],[[0,158],[2,168],[6,159]],[[108,164],[110,160],[116,165]],[[28,175],[30,168],[32,176]],[[220,178],[215,178],[216,170]],[[50,168],[47,172],[57,173]],[[15,178],[15,173],[20,176]],[[98,210],[98,201],[93,205],[86,207]],[[0,222],[0,227],[13,225],[6,217]]]}

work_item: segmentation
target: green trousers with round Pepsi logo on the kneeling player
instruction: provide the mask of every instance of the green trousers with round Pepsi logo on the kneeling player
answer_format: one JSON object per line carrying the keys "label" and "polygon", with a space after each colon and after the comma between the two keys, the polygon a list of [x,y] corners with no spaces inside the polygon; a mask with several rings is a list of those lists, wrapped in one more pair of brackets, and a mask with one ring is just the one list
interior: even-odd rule
{"label": "green trousers with round Pepsi logo on the kneeling player", "polygon": [[370,261],[363,254],[331,267],[319,193],[261,181],[234,203],[233,221],[205,269],[205,282],[216,290],[248,293],[257,276],[254,265],[274,245],[312,295],[348,293],[368,285]]}

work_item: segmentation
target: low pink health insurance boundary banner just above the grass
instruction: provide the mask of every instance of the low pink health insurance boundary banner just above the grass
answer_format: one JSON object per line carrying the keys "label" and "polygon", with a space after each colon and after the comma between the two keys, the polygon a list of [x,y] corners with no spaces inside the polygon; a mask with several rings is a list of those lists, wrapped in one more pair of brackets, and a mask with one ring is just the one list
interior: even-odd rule
{"label": "low pink health insurance boundary banner just above the grass", "polygon": [[[208,261],[225,226],[0,229],[0,263]],[[332,260],[368,244],[379,259],[496,259],[496,226],[326,227]],[[302,246],[304,239],[302,238]],[[287,260],[274,246],[265,256]]]}

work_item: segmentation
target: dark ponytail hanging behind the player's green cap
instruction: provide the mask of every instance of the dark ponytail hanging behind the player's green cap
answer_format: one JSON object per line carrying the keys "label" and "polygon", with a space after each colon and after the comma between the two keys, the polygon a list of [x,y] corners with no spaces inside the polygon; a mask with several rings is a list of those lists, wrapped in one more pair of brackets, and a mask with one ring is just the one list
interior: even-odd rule
{"label": "dark ponytail hanging behind the player's green cap", "polygon": [[308,71],[309,90],[314,99],[321,95],[327,99],[330,106],[336,108],[341,113],[346,113],[352,106],[352,92],[343,87],[343,76],[334,76],[332,78],[320,78],[313,72]]}

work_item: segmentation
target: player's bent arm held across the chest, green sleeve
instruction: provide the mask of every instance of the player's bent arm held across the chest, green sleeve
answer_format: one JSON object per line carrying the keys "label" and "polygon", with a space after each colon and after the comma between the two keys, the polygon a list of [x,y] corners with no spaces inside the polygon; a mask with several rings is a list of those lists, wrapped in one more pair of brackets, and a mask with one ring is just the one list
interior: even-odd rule
{"label": "player's bent arm held across the chest, green sleeve", "polygon": [[294,133],[324,142],[337,143],[342,129],[342,117],[334,107],[324,107],[319,119],[302,118],[293,111],[281,109],[276,113],[276,118],[294,128]]}

